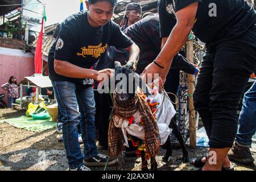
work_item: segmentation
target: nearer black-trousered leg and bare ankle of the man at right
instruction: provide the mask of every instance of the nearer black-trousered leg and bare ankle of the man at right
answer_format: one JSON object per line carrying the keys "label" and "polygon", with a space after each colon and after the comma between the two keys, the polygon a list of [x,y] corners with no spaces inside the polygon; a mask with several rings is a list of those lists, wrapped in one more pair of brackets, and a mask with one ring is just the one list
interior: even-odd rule
{"label": "nearer black-trousered leg and bare ankle of the man at right", "polygon": [[[251,28],[237,39],[220,43],[214,53],[210,112],[212,133],[209,152],[215,163],[208,160],[203,170],[221,170],[227,152],[237,133],[238,103],[255,69],[256,28]],[[209,156],[210,158],[210,156]]]}

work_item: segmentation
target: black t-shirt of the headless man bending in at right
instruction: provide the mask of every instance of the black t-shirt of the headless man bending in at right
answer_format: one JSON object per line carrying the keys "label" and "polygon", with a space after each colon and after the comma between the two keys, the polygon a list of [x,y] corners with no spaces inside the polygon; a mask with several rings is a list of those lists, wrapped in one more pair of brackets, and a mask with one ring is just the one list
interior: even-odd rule
{"label": "black t-shirt of the headless man bending in at right", "polygon": [[171,1],[159,0],[159,15],[163,16],[163,22],[168,21],[170,16],[160,11],[167,10],[167,5],[170,3],[177,12],[192,3],[199,2],[192,31],[197,38],[207,44],[217,44],[223,40],[237,38],[256,23],[255,10],[245,0]]}

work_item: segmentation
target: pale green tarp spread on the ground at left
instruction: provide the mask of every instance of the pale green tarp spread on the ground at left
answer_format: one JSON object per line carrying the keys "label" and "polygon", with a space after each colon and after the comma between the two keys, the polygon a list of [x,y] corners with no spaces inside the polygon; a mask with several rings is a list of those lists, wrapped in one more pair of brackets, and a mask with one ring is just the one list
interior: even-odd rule
{"label": "pale green tarp spread on the ground at left", "polygon": [[3,119],[0,121],[0,123],[9,123],[11,126],[28,131],[44,131],[53,129],[57,126],[57,123],[53,122],[51,118],[36,120],[26,116],[12,119]]}

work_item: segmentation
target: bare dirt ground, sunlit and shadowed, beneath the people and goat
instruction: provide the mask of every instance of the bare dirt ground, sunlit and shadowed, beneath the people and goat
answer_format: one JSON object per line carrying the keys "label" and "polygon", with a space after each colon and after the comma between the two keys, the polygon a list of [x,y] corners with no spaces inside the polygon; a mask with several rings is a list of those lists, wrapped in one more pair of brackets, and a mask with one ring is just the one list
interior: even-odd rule
{"label": "bare dirt ground, sunlit and shadowed, beneath the people and goat", "polygon": [[[25,110],[0,109],[0,120],[14,118],[24,115]],[[24,170],[24,171],[65,171],[68,170],[67,159],[63,142],[57,142],[56,129],[31,132],[17,129],[9,124],[0,123],[0,171]],[[83,146],[81,145],[81,148]],[[187,147],[189,158],[207,154],[207,148]],[[101,154],[108,154],[107,150],[99,149]],[[182,163],[182,152],[179,148],[174,149],[169,162],[162,162],[165,150],[161,148],[158,162],[159,171],[193,171],[195,167],[188,163]],[[251,149],[254,158],[256,148]],[[237,171],[256,170],[254,166],[243,166],[239,163],[232,163]],[[96,171],[139,171],[141,170],[141,160],[139,158],[122,158],[113,167],[90,167]]]}

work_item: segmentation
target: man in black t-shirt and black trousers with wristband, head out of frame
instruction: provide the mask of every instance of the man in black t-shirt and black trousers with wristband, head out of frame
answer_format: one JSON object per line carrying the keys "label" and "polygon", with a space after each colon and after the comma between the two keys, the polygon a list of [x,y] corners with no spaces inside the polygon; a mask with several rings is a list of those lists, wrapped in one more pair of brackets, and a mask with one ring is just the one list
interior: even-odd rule
{"label": "man in black t-shirt and black trousers with wristband, head out of frame", "polygon": [[163,11],[169,12],[163,23],[174,19],[171,14],[175,14],[177,23],[144,74],[160,73],[165,80],[170,60],[183,47],[191,30],[206,43],[193,95],[209,137],[209,156],[202,169],[230,169],[226,154],[237,133],[238,102],[256,67],[255,11],[245,0],[159,1]]}

